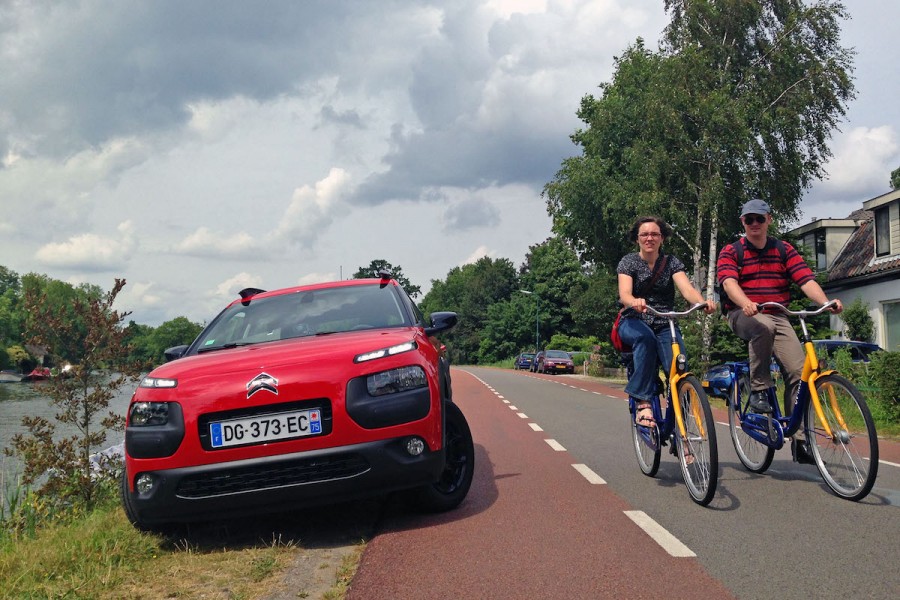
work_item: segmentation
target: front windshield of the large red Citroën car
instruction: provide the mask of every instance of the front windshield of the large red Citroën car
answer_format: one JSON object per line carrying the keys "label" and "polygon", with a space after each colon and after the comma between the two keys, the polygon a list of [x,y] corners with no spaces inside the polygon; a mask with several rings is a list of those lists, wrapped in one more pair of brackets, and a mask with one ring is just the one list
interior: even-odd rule
{"label": "front windshield of the large red Citro\u00ebn car", "polygon": [[310,335],[410,326],[392,286],[303,290],[228,307],[194,343],[198,352]]}

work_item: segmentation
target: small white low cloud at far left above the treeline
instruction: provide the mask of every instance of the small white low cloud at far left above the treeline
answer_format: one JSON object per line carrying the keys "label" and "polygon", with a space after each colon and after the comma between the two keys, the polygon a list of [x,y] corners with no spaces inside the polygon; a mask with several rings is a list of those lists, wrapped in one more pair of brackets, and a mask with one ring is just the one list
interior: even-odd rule
{"label": "small white low cloud at far left above the treeline", "polygon": [[38,249],[35,259],[48,267],[83,271],[124,269],[137,247],[134,227],[125,221],[118,227],[117,237],[93,233],[72,236],[66,242],[51,243]]}

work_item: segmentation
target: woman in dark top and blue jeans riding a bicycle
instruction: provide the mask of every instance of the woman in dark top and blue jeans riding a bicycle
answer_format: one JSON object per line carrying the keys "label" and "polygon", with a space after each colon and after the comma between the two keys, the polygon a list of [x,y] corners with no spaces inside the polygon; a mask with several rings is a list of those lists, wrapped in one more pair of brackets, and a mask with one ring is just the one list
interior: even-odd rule
{"label": "woman in dark top and blue jeans riding a bicycle", "polygon": [[[660,312],[674,310],[675,288],[691,304],[706,303],[706,314],[716,310],[713,300],[704,300],[684,272],[684,263],[672,255],[664,255],[662,245],[672,233],[659,217],[640,217],[628,232],[629,241],[638,251],[626,254],[616,268],[622,314],[619,336],[632,347],[634,369],[625,392],[634,398],[635,421],[638,425],[654,424],[651,400],[658,397],[659,366],[668,370],[672,364],[672,335],[666,319],[647,313],[647,306]],[[659,262],[662,261],[662,262]],[[645,289],[648,288],[649,289]],[[678,343],[684,348],[681,330],[676,327]]]}

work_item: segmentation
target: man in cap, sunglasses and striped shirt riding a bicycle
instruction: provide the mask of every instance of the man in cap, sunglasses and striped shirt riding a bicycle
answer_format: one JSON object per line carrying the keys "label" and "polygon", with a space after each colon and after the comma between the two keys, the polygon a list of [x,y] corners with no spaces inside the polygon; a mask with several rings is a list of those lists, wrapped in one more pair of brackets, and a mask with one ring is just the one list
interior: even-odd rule
{"label": "man in cap, sunglasses and striped shirt riding a bicycle", "polygon": [[[811,301],[821,305],[828,297],[797,250],[782,240],[769,237],[772,215],[763,200],[750,200],[741,209],[745,237],[728,244],[719,253],[716,274],[727,311],[728,325],[749,342],[750,408],[770,413],[766,390],[773,386],[770,363],[774,354],[784,376],[784,414],[790,415],[800,385],[806,353],[788,318],[780,313],[760,312],[760,302],[790,301],[791,282]],[[741,248],[736,249],[740,244]],[[840,300],[832,312],[843,310]],[[813,464],[812,456],[799,431],[791,440],[791,453],[800,463]]]}

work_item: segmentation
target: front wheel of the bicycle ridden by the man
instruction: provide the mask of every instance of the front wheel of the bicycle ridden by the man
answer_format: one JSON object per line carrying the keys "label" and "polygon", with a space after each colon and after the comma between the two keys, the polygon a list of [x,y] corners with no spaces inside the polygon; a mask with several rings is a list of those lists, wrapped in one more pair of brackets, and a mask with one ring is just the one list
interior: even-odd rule
{"label": "front wheel of the bicycle ridden by the man", "polygon": [[816,380],[829,437],[809,400],[806,436],[825,483],[847,500],[864,498],[878,475],[878,438],[865,399],[856,386],[840,375]]}

